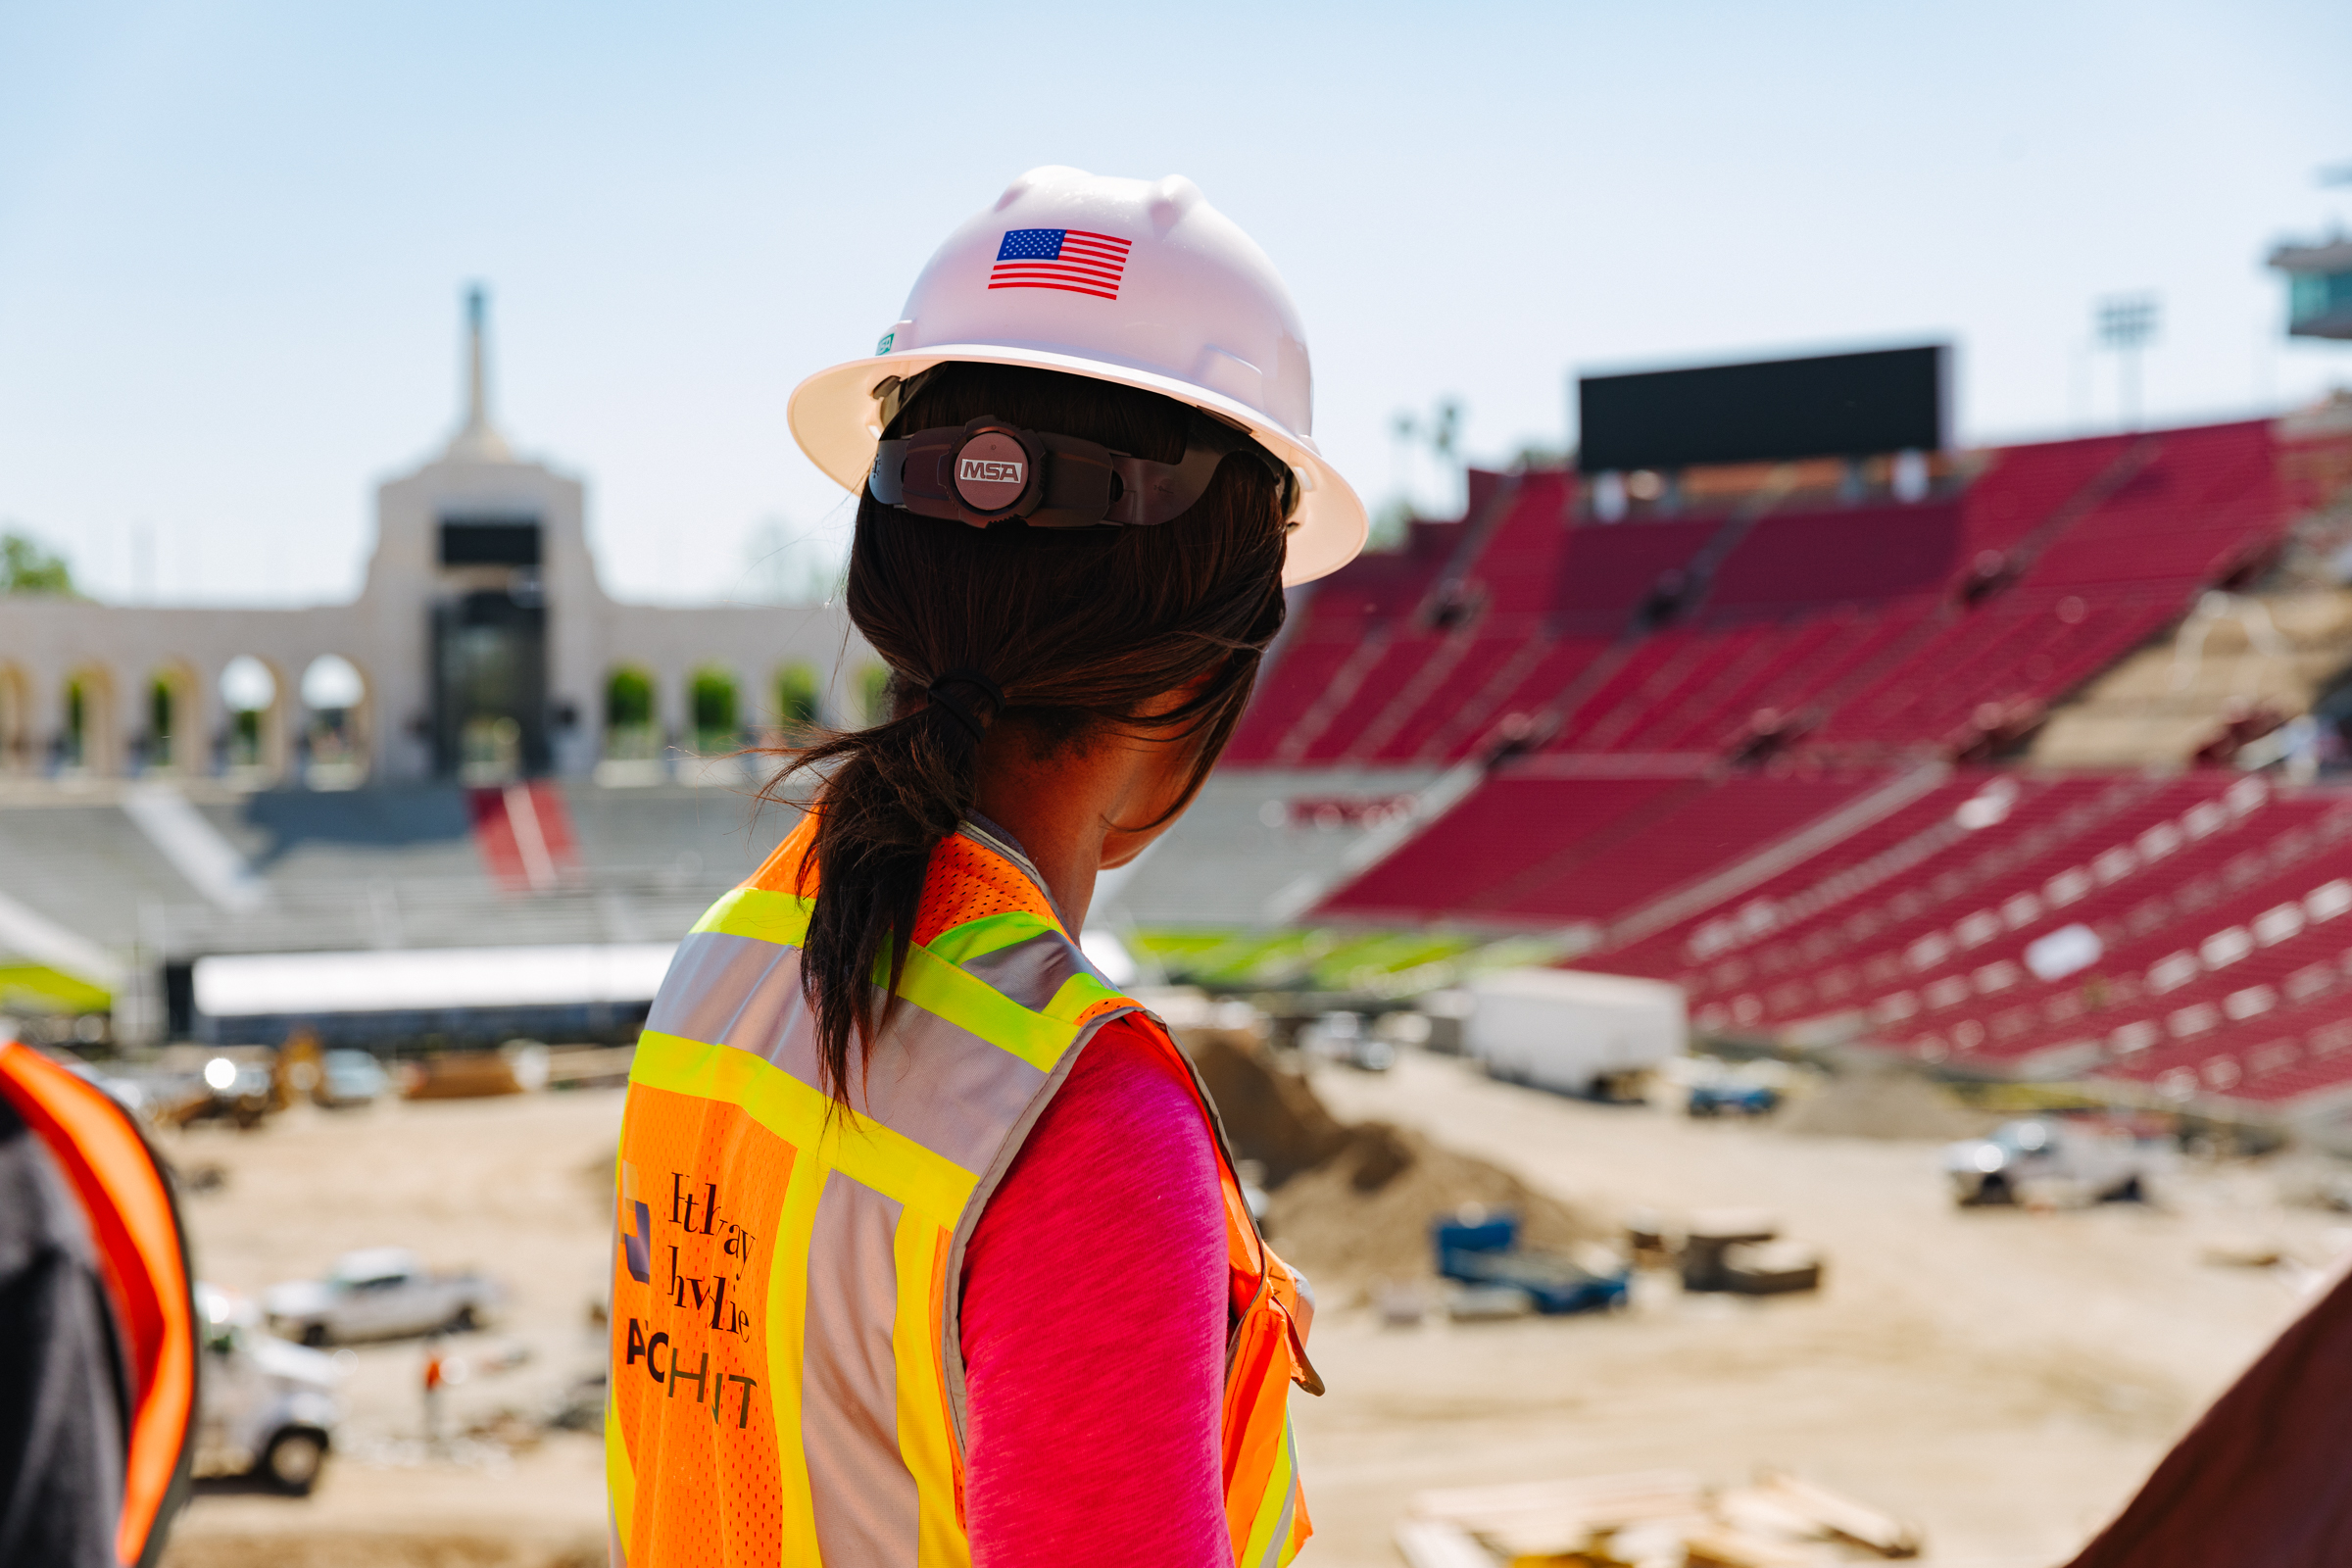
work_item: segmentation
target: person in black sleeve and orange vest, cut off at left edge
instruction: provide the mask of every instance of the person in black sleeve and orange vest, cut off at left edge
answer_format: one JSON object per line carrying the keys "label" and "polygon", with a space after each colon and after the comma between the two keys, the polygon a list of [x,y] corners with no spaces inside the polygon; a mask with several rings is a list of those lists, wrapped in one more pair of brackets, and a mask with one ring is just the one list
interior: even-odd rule
{"label": "person in black sleeve and orange vest, cut off at left edge", "polygon": [[172,1180],[113,1095],[7,1039],[0,1302],[0,1563],[155,1563],[195,1432]]}

